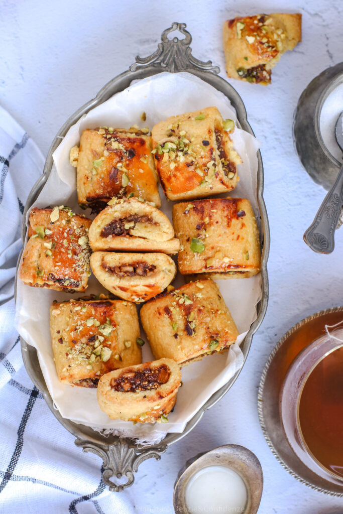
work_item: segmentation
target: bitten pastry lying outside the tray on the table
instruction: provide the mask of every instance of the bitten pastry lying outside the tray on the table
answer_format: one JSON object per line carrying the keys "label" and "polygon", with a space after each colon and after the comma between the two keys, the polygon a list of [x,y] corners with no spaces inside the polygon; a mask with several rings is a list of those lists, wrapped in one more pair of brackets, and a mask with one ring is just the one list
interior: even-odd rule
{"label": "bitten pastry lying outside the tray on the table", "polygon": [[223,27],[226,71],[233,79],[267,85],[282,53],[301,41],[301,14],[257,14]]}

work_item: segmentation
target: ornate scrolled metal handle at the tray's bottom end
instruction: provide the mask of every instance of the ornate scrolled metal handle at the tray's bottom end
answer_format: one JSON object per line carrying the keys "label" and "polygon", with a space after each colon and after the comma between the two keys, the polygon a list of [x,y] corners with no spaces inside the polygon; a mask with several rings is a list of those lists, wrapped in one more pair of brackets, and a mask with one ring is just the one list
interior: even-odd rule
{"label": "ornate scrolled metal handle at the tray's bottom end", "polygon": [[[167,445],[139,450],[132,445],[129,439],[120,439],[119,437],[111,445],[99,445],[81,439],[76,439],[75,444],[83,448],[84,452],[91,451],[102,458],[104,468],[102,480],[109,486],[110,491],[115,492],[122,492],[134,483],[134,473],[139,464],[152,457],[159,461],[161,453],[167,450]],[[128,479],[125,484],[116,484],[111,480],[112,477],[121,479],[122,476],[126,476]]]}

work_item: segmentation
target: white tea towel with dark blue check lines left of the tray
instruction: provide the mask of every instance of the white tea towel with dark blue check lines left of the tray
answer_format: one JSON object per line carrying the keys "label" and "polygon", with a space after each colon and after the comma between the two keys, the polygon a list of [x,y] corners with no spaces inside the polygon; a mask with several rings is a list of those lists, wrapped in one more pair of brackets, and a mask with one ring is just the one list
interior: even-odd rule
{"label": "white tea towel with dark blue check lines left of the tray", "polygon": [[37,146],[0,107],[0,513],[131,512],[101,480],[101,459],[74,445],[33,386],[13,328],[24,205],[43,166]]}

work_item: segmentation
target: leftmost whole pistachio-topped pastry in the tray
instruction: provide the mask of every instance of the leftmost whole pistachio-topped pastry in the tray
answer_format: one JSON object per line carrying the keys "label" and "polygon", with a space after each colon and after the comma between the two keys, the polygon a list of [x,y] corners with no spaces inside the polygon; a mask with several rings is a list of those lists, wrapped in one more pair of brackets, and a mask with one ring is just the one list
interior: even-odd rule
{"label": "leftmost whole pistachio-topped pastry in the tray", "polygon": [[29,222],[29,240],[22,255],[19,278],[33,287],[84,291],[90,273],[91,219],[63,206],[34,207]]}

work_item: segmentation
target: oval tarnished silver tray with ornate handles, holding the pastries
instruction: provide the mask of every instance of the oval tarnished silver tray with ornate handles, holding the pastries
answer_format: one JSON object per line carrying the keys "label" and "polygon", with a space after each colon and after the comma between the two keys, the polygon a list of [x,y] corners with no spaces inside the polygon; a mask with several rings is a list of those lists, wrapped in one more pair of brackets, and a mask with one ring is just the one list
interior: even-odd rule
{"label": "oval tarnished silver tray with ornate handles, holding the pastries", "polygon": [[[179,31],[184,38],[178,39],[174,34],[173,39],[168,38],[168,34]],[[26,213],[31,205],[38,197],[41,189],[43,188],[52,168],[52,154],[57,149],[61,140],[69,130],[69,127],[77,122],[77,120],[85,113],[96,107],[97,105],[105,102],[118,91],[127,88],[133,80],[144,79],[152,75],[157,75],[164,71],[170,73],[177,73],[179,71],[187,71],[195,75],[205,82],[211,84],[214,88],[222,91],[224,95],[230,100],[232,106],[236,109],[237,117],[241,127],[254,135],[251,127],[246,118],[246,111],[243,101],[237,91],[230,86],[224,79],[217,74],[220,69],[218,66],[212,66],[211,61],[206,63],[199,61],[192,56],[190,43],[192,41],[190,33],[186,30],[185,23],[173,23],[172,26],[166,29],[161,35],[161,43],[158,44],[157,50],[146,58],[136,57],[136,62],[130,66],[130,69],[124,71],[122,74],[115,77],[107,83],[98,93],[98,95],[85,105],[83,105],[75,114],[62,126],[61,130],[52,141],[50,146],[44,171],[39,180],[35,183],[28,196],[28,200],[24,210],[22,239],[25,241],[26,235]],[[257,175],[257,198],[258,206],[261,216],[261,227],[263,232],[262,239],[262,300],[257,305],[257,318],[250,326],[250,329],[241,344],[241,349],[244,355],[244,361],[248,355],[252,335],[257,331],[264,318],[267,302],[268,302],[268,276],[267,276],[267,259],[269,253],[270,235],[268,218],[266,208],[263,200],[263,166],[261,154],[258,152],[258,175]],[[20,262],[21,255],[19,257]],[[125,487],[129,487],[134,482],[134,472],[140,463],[147,458],[155,457],[160,458],[160,454],[165,452],[169,445],[175,443],[177,440],[188,434],[195,425],[200,421],[204,412],[212,407],[219,401],[225,393],[230,389],[234,381],[239,375],[239,371],[234,375],[220,390],[216,391],[203,405],[198,412],[190,419],[182,433],[168,433],[163,441],[158,445],[138,447],[137,443],[128,438],[119,438],[118,436],[105,437],[100,433],[92,430],[84,425],[73,423],[69,419],[62,418],[59,411],[53,407],[52,399],[47,390],[45,380],[40,369],[37,351],[33,346],[27,344],[21,339],[23,361],[27,373],[29,374],[32,382],[42,392],[48,407],[60,423],[75,437],[77,438],[75,444],[83,448],[84,452],[91,451],[103,460],[103,481],[107,484],[111,491],[122,491]],[[111,478],[117,477],[120,479],[125,475],[128,482],[125,484],[116,484]]]}

